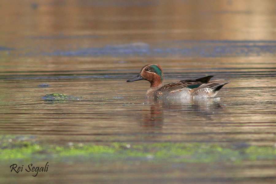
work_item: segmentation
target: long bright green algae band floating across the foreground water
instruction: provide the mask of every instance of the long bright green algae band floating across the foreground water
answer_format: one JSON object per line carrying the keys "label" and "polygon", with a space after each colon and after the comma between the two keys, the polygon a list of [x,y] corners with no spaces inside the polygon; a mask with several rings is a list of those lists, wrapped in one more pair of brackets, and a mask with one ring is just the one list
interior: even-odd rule
{"label": "long bright green algae band floating across the foreground water", "polygon": [[47,144],[32,136],[0,136],[0,161],[10,159],[47,159],[72,161],[130,161],[156,163],[217,163],[276,160],[270,146],[222,146],[215,143],[91,143]]}

